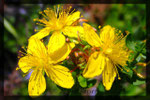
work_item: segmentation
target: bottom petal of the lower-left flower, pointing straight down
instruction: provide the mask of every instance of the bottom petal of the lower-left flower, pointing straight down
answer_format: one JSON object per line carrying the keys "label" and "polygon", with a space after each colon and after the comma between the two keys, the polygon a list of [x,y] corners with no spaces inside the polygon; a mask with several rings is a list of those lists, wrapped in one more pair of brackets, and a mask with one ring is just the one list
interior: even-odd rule
{"label": "bottom petal of the lower-left flower, pointing straight down", "polygon": [[28,92],[30,96],[39,96],[46,89],[46,81],[42,70],[33,70],[28,84]]}

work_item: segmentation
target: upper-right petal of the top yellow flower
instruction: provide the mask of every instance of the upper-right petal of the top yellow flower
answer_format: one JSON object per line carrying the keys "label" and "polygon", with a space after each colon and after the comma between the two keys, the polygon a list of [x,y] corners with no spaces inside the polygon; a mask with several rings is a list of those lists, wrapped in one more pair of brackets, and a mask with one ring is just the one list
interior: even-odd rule
{"label": "upper-right petal of the top yellow flower", "polygon": [[66,25],[71,25],[73,22],[75,22],[79,18],[80,18],[80,12],[79,11],[76,11],[76,12],[70,14],[66,19],[67,20]]}

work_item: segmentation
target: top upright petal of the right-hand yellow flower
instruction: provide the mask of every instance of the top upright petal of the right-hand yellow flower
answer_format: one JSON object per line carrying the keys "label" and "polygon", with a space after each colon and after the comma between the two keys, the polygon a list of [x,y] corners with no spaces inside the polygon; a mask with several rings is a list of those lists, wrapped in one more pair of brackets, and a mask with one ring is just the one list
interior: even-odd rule
{"label": "top upright petal of the right-hand yellow flower", "polygon": [[106,25],[100,31],[100,40],[102,43],[112,43],[114,42],[115,38],[115,29],[112,28],[110,25]]}

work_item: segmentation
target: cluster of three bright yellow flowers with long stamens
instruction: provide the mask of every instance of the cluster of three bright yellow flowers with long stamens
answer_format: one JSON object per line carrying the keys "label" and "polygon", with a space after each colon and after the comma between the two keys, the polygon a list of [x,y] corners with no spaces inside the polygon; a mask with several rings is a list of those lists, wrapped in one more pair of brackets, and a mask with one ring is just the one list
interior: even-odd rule
{"label": "cluster of three bright yellow flowers with long stamens", "polygon": [[[104,26],[97,34],[79,11],[70,11],[71,7],[64,9],[55,6],[54,9],[47,8],[40,12],[42,19],[34,19],[43,28],[29,38],[26,54],[18,62],[18,69],[24,73],[32,72],[28,84],[30,96],[39,96],[45,91],[45,74],[63,88],[73,87],[75,81],[72,71],[61,65],[61,62],[69,57],[81,41],[86,41],[91,49],[94,48],[86,60],[78,59],[86,65],[82,70],[83,77],[102,75],[106,90],[111,89],[117,75],[120,78],[117,68],[124,69],[129,56],[126,36],[110,25]],[[81,21],[83,25],[79,23]],[[48,36],[49,41],[45,42],[44,38]],[[79,54],[82,55],[82,52]]]}

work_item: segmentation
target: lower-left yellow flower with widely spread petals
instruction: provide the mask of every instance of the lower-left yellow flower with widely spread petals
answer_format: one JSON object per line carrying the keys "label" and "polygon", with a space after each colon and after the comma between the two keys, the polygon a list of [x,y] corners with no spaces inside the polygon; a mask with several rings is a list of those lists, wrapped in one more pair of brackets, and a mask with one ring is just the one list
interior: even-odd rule
{"label": "lower-left yellow flower with widely spread petals", "polygon": [[71,52],[75,45],[67,43],[60,50],[54,52],[53,55],[49,51],[53,48],[47,48],[39,39],[32,38],[29,40],[27,54],[19,59],[18,65],[24,73],[32,74],[29,79],[28,92],[30,96],[41,95],[46,89],[46,75],[57,85],[64,88],[71,88],[74,80],[68,68],[58,65]]}

